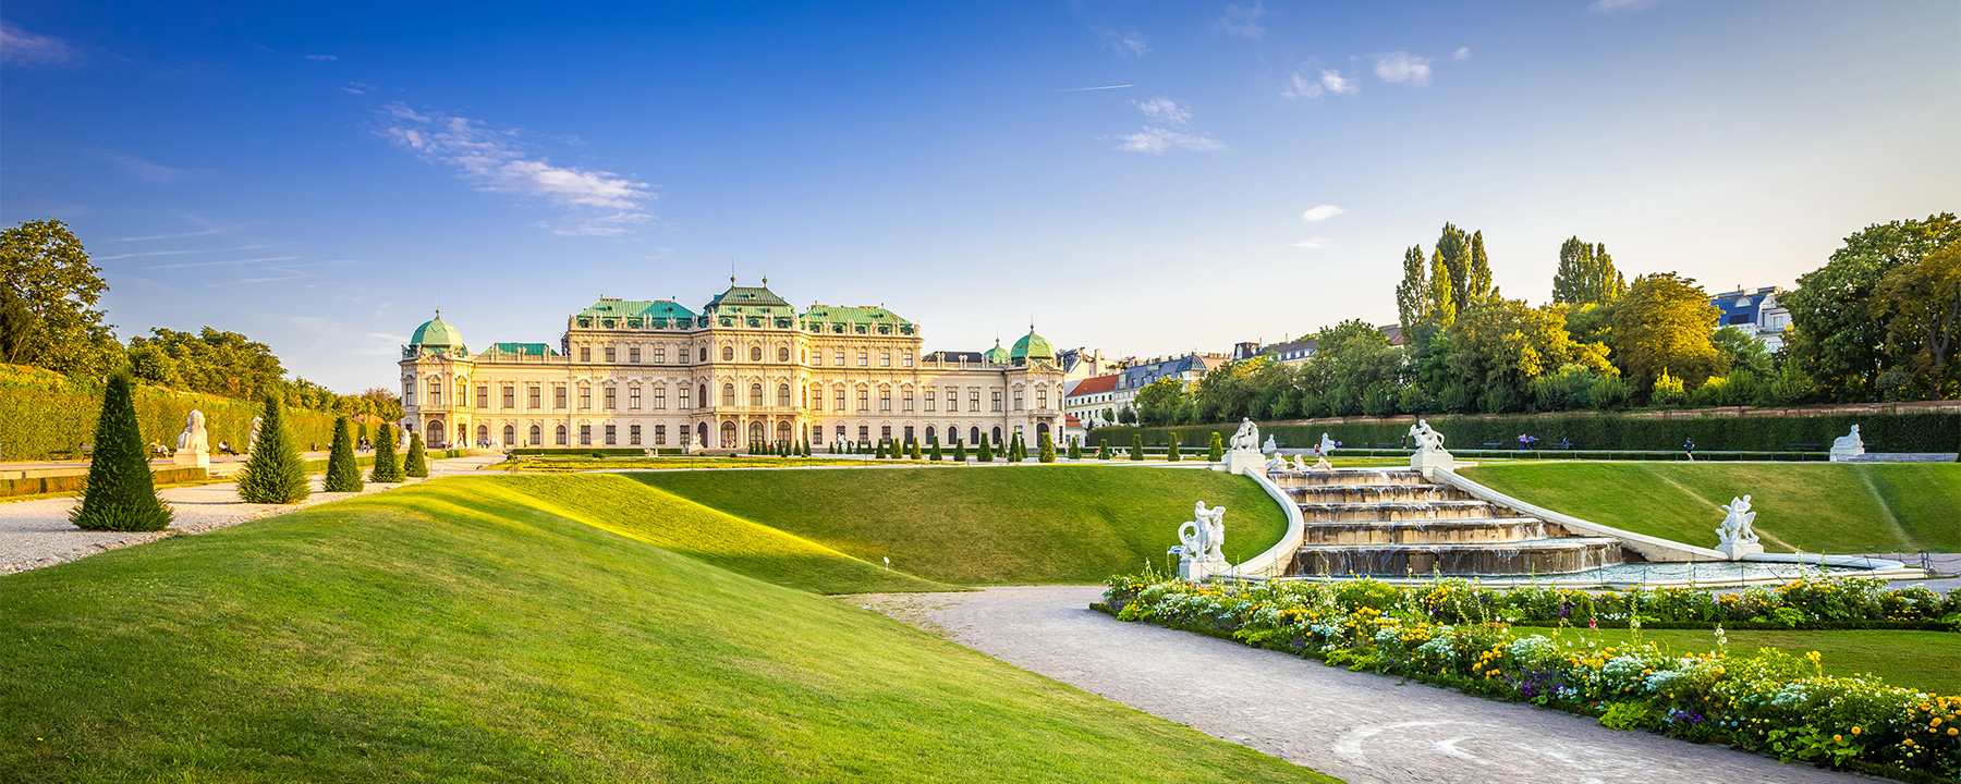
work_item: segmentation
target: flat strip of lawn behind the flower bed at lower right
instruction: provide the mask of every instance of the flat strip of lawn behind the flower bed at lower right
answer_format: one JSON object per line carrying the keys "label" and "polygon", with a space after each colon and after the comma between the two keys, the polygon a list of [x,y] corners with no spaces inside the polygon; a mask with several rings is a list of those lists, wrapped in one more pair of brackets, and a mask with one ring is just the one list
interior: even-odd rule
{"label": "flat strip of lawn behind the flower bed at lower right", "polygon": [[[1551,635],[1551,629],[1514,627],[1518,635]],[[1628,629],[1561,629],[1561,635],[1624,645]],[[1818,651],[1826,674],[1877,674],[1894,686],[1936,694],[1961,694],[1961,635],[1953,631],[1724,631],[1730,653],[1781,649],[1802,657]],[[1706,653],[1716,647],[1714,631],[1641,629],[1643,641],[1667,645],[1675,653]]]}

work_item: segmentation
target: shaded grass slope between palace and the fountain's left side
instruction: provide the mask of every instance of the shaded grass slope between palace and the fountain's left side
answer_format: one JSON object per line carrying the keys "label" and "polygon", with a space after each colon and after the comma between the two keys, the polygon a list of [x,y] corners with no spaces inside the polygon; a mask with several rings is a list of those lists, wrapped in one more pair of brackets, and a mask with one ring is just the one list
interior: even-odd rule
{"label": "shaded grass slope between palace and the fountain's left side", "polygon": [[628,474],[928,580],[1102,582],[1147,559],[1165,568],[1192,504],[1226,506],[1226,557],[1263,553],[1286,515],[1259,484],[1216,470],[1000,466],[694,470]]}

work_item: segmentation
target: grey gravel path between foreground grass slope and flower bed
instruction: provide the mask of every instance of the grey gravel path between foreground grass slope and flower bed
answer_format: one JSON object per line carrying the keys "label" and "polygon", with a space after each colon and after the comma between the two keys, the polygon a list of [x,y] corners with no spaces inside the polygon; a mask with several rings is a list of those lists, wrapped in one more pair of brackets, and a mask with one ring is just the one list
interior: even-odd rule
{"label": "grey gravel path between foreground grass slope and flower bed", "polygon": [[1875,780],[1594,719],[1349,672],[1245,645],[1122,623],[1100,586],[851,596],[1010,664],[1365,782],[1806,784]]}

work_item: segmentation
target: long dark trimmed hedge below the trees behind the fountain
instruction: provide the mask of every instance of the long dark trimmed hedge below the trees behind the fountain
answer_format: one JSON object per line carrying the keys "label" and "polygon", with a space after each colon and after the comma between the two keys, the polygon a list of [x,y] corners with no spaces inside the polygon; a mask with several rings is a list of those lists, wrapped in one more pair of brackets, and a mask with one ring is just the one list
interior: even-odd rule
{"label": "long dark trimmed hedge below the trees behind the fountain", "polygon": [[[1816,443],[1808,453],[1824,455],[1832,449],[1832,439],[1859,425],[1867,451],[1875,453],[1947,453],[1961,447],[1961,414],[1916,412],[1916,414],[1822,414],[1822,416],[1700,416],[1683,419],[1659,419],[1630,414],[1518,414],[1518,416],[1433,416],[1426,417],[1447,439],[1443,445],[1453,455],[1469,455],[1486,443],[1518,445],[1518,433],[1539,437],[1537,451],[1498,449],[1506,457],[1532,453],[1559,453],[1545,449],[1559,439],[1573,439],[1573,445],[1586,451],[1673,451],[1681,453],[1683,439],[1694,439],[1696,459],[1704,449],[1734,453],[1785,453],[1792,443]],[[1165,447],[1177,431],[1184,443],[1202,443],[1214,429],[1237,427],[1235,423],[1181,425],[1181,427],[1096,427],[1090,439],[1130,441],[1130,435],[1143,435],[1143,443]],[[1410,433],[1410,421],[1330,421],[1330,423],[1259,423],[1261,437],[1273,435],[1282,447],[1308,447],[1320,443],[1322,433],[1351,447],[1371,443],[1402,445]],[[1363,449],[1343,449],[1337,455],[1361,455]],[[1390,453],[1392,455],[1392,453]],[[1406,455],[1406,453],[1404,453]],[[1757,457],[1751,457],[1757,459]]]}

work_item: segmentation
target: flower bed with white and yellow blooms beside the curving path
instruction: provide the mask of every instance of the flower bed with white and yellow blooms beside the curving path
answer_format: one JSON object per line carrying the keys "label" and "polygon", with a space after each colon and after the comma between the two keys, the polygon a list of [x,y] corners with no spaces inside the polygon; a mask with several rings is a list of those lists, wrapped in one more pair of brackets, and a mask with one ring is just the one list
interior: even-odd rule
{"label": "flower bed with white and yellow blooms beside the curving path", "polygon": [[[1851,619],[1855,612],[1867,612],[1859,610],[1867,602],[1877,602],[1881,612],[1926,602],[1910,594],[1888,604],[1886,594],[1914,588],[1888,592],[1863,582],[1877,580],[1800,582],[1773,594],[1783,600],[1779,608],[1818,619]],[[1681,592],[1641,594],[1669,594],[1653,608],[1726,606],[1720,596],[1690,598]],[[1961,600],[1961,592],[1920,592],[1949,612]],[[1730,653],[1720,627],[1712,635],[1714,649],[1698,655],[1667,655],[1653,643],[1602,647],[1557,633],[1520,635],[1510,627],[1508,621],[1518,615],[1581,604],[1565,594],[1579,592],[1494,592],[1463,580],[1432,586],[1375,580],[1198,586],[1157,576],[1116,576],[1102,610],[1124,621],[1200,631],[1355,670],[1596,715],[1616,729],[1730,743],[1783,760],[1908,780],[1961,776],[1961,729],[1955,727],[1961,696],[1888,686],[1871,676],[1826,676],[1818,653]],[[1614,600],[1600,596],[1590,606],[1598,612],[1602,604],[1612,608]],[[1639,629],[1651,604],[1630,596],[1620,600],[1637,608],[1630,621]]]}

